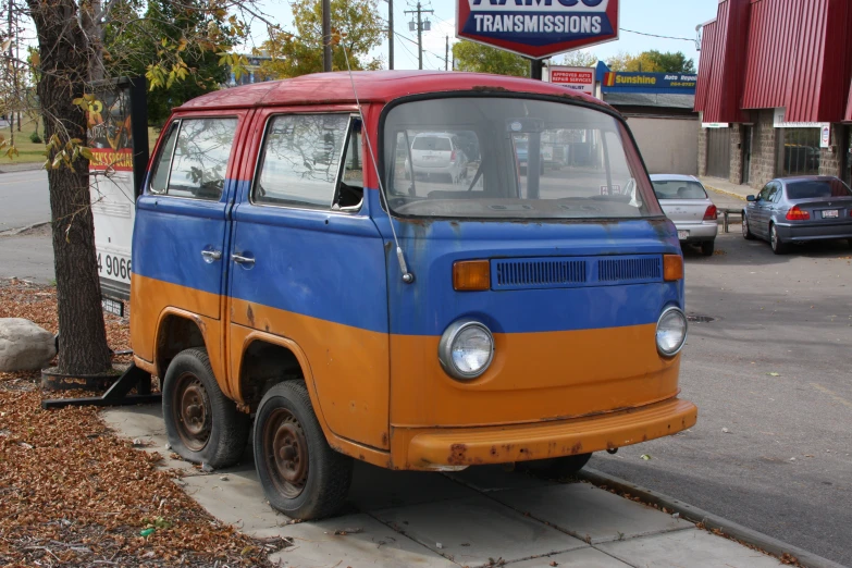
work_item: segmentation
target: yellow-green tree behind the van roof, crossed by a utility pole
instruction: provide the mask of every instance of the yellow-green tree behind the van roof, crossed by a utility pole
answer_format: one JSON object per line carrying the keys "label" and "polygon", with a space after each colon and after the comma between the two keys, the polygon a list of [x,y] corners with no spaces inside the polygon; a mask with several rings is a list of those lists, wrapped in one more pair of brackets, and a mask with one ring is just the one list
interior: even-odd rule
{"label": "yellow-green tree behind the van roof, crossed by a utility pole", "polygon": [[[258,50],[271,58],[260,64],[262,77],[297,77],[322,71],[322,2],[307,0],[291,7],[296,33],[270,29],[269,40]],[[332,69],[346,71],[346,53],[353,70],[382,69],[381,59],[369,57],[385,35],[376,0],[332,0],[331,9]]]}

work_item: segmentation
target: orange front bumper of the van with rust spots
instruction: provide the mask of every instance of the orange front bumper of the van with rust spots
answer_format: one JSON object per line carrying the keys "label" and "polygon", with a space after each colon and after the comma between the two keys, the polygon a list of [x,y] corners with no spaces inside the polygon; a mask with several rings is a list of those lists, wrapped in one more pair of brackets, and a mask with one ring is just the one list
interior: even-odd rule
{"label": "orange front bumper of the van with rust spots", "polygon": [[689,400],[662,403],[572,420],[513,427],[409,432],[406,469],[476,466],[586,454],[639,444],[695,424]]}

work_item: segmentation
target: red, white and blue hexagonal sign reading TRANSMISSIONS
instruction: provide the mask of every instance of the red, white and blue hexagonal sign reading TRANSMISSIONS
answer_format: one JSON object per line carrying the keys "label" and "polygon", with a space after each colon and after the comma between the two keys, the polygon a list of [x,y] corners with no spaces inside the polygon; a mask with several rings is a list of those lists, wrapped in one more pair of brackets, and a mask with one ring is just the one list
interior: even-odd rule
{"label": "red, white and blue hexagonal sign reading TRANSMISSIONS", "polygon": [[544,59],[618,39],[618,0],[456,0],[456,36]]}

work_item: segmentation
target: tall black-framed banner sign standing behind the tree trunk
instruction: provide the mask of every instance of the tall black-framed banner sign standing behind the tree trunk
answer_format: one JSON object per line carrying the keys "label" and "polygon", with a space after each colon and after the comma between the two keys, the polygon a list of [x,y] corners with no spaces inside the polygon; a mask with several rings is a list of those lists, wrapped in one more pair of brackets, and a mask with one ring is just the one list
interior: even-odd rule
{"label": "tall black-framed banner sign standing behind the tree trunk", "polygon": [[[87,92],[95,97],[87,134],[98,275],[106,298],[127,299],[136,197],[148,163],[145,79],[98,82]],[[104,300],[110,311],[116,305]]]}

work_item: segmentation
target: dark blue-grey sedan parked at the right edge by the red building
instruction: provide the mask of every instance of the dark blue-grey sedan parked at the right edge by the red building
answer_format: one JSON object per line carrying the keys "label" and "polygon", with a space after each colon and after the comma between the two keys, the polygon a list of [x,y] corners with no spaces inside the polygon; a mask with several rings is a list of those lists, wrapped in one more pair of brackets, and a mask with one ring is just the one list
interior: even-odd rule
{"label": "dark blue-grey sedan parked at the right edge by the red building", "polygon": [[768,240],[773,252],[792,243],[845,238],[852,245],[852,190],[837,177],[773,180],[742,212],[742,236]]}

